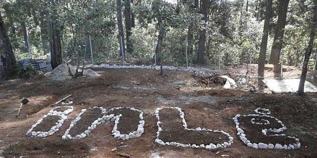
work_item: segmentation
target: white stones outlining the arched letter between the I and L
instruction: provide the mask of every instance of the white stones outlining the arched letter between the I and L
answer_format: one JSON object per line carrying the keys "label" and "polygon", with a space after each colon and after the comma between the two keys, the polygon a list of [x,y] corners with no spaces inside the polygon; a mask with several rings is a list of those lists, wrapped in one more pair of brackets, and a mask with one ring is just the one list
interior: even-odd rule
{"label": "white stones outlining the arched letter between the I and L", "polygon": [[[126,107],[119,107],[119,108],[112,108],[109,111],[106,111],[105,108],[102,107],[94,107],[94,108],[99,108],[102,111],[102,118],[97,118],[95,121],[93,121],[91,123],[91,125],[83,132],[83,133],[79,133],[76,136],[71,136],[69,134],[69,131],[71,130],[71,128],[76,125],[76,122],[79,121],[81,119],[81,116],[86,112],[86,109],[83,109],[81,111],[81,113],[77,116],[77,118],[75,118],[74,120],[71,121],[69,128],[65,131],[64,135],[62,136],[62,139],[81,139],[84,138],[86,136],[88,136],[92,130],[94,130],[99,124],[101,123],[106,123],[106,122],[110,122],[110,121],[114,121],[114,127],[112,129],[112,135],[115,138],[121,139],[121,140],[128,140],[130,138],[137,138],[137,137],[141,137],[142,133],[144,132],[144,123],[145,121],[143,120],[143,112],[141,110],[137,110],[135,108],[126,108]],[[92,108],[89,108],[92,109]],[[122,116],[121,114],[119,115],[107,115],[110,112],[115,112],[116,110],[121,110],[121,109],[126,109],[126,110],[131,110],[131,111],[136,111],[139,112],[139,124],[137,127],[136,131],[130,132],[130,133],[125,133],[125,134],[121,134],[120,131],[117,130],[117,125],[120,121],[120,118],[122,117],[124,119],[124,116]]]}

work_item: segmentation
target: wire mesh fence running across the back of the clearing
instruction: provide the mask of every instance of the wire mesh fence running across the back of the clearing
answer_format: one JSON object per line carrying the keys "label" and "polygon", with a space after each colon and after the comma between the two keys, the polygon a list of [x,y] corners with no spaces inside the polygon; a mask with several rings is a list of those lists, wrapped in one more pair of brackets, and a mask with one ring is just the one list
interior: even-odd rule
{"label": "wire mesh fence running across the back of the clearing", "polygon": [[[76,41],[74,41],[76,40]],[[151,39],[134,38],[134,52],[125,53],[123,58],[119,56],[119,43],[116,36],[94,36],[94,35],[80,35],[74,38],[67,38],[62,40],[62,57],[63,62],[70,61],[72,65],[88,66],[88,65],[159,65],[159,58],[162,60],[162,65],[176,66],[176,67],[202,67],[219,72],[229,72],[231,68],[239,67],[240,74],[245,76],[258,76],[258,58],[260,48],[255,44],[245,46],[237,50],[237,48],[230,46],[228,43],[215,42],[215,46],[206,47],[205,61],[197,60],[198,43],[194,42],[193,47],[189,49],[188,39],[186,34],[173,37],[170,35],[166,37],[167,41],[163,42],[161,46],[161,54],[155,54],[157,37]],[[51,41],[41,40],[41,42],[34,42],[35,40],[28,40],[29,49],[22,49],[15,47],[14,52],[18,56],[17,59],[23,58],[41,58],[46,61],[51,60]],[[210,42],[210,41],[209,41]],[[21,45],[25,45],[21,40]],[[233,52],[239,52],[239,55]],[[294,78],[301,74],[301,63],[294,66],[289,66],[288,55],[284,50],[278,55],[273,50],[272,55],[266,55],[265,61],[265,78]],[[317,54],[313,58],[316,58]],[[124,59],[124,60],[123,60]],[[204,64],[201,64],[204,63]],[[270,64],[272,63],[272,64]],[[316,60],[311,62],[311,69],[315,70],[316,74]]]}

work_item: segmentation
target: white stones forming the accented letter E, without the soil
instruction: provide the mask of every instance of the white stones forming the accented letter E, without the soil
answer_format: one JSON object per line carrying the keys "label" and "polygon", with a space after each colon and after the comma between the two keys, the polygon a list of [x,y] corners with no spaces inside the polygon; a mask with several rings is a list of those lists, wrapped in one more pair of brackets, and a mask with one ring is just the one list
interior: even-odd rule
{"label": "white stones forming the accented letter E, without the soil", "polygon": [[[262,112],[259,112],[259,111],[262,111]],[[268,109],[262,109],[262,108],[257,108],[255,110],[256,113],[258,114],[249,114],[249,115],[236,115],[233,119],[233,121],[235,122],[236,124],[236,129],[237,129],[237,136],[240,138],[240,140],[246,144],[248,147],[251,147],[251,148],[255,148],[255,149],[284,149],[284,150],[294,150],[294,149],[299,149],[301,147],[301,143],[299,142],[299,139],[298,138],[295,138],[295,137],[291,137],[291,136],[286,136],[285,134],[273,134],[273,135],[269,135],[268,132],[273,132],[273,133],[281,133],[281,132],[284,132],[287,127],[282,123],[282,121],[278,120],[277,118],[274,118],[274,117],[271,117],[271,116],[268,116],[270,115],[270,112]],[[260,114],[260,115],[259,115]],[[265,143],[261,143],[259,142],[258,144],[257,143],[252,143],[250,140],[248,140],[246,137],[248,137],[246,134],[245,134],[245,131],[240,128],[240,122],[239,122],[239,118],[244,118],[244,117],[254,117],[254,118],[251,118],[250,121],[248,122],[244,122],[244,123],[251,123],[251,124],[254,124],[254,125],[258,125],[258,126],[264,126],[262,131],[259,131],[259,135],[263,134],[265,136],[268,136],[268,137],[284,137],[286,139],[292,139],[294,140],[293,143],[291,144],[284,144],[284,145],[281,145],[281,144],[278,144],[278,143],[269,143],[269,144],[265,144]],[[260,119],[261,118],[261,119]],[[268,120],[273,120],[273,121],[276,121],[276,122],[269,122]],[[270,123],[277,123],[277,124],[280,124],[280,128],[265,128],[265,126],[268,126]],[[250,129],[252,130],[252,129]]]}

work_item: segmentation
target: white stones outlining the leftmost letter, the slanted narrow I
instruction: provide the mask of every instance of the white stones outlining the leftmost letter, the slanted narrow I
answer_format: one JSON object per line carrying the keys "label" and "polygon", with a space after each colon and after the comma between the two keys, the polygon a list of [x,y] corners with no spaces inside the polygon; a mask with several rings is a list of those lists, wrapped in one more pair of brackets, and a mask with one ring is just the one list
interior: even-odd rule
{"label": "white stones outlining the leftmost letter, the slanted narrow I", "polygon": [[[60,111],[58,109],[67,108],[64,111]],[[69,113],[71,113],[74,110],[72,106],[65,106],[65,107],[56,107],[52,109],[47,115],[44,115],[41,119],[39,119],[35,124],[32,125],[32,127],[26,132],[26,136],[28,137],[47,137],[49,135],[53,135],[56,131],[59,130],[59,127],[62,126],[64,121],[67,119],[67,116]],[[49,131],[33,131],[33,129],[41,124],[44,118],[52,117],[52,116],[58,116],[59,119],[56,120],[55,125],[51,127]]]}

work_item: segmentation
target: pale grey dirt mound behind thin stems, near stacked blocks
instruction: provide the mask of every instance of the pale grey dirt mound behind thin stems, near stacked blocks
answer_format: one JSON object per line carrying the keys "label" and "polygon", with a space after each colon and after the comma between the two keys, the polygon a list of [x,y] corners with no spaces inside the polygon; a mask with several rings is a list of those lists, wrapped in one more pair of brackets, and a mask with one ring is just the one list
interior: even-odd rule
{"label": "pale grey dirt mound behind thin stems, near stacked blocks", "polygon": [[[72,74],[75,74],[76,67],[69,65]],[[78,72],[82,70],[79,69]],[[86,77],[99,77],[100,75],[91,69],[84,70],[83,73]],[[66,64],[61,64],[57,66],[52,72],[46,73],[45,76],[49,79],[63,80],[63,79],[71,79],[71,76],[68,73],[68,67]]]}

